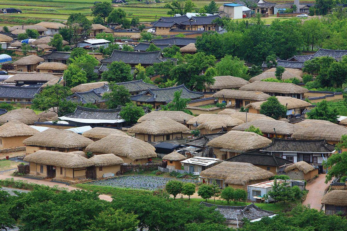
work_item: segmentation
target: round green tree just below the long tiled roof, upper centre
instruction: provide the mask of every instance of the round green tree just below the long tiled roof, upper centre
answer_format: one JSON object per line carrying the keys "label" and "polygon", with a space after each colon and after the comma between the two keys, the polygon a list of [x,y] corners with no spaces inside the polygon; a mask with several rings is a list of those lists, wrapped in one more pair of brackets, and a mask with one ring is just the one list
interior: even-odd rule
{"label": "round green tree just below the long tiled roof, upper centre", "polygon": [[112,62],[107,65],[108,71],[104,71],[101,74],[103,81],[115,81],[115,82],[128,82],[133,80],[133,75],[131,73],[131,66],[125,64],[122,61]]}

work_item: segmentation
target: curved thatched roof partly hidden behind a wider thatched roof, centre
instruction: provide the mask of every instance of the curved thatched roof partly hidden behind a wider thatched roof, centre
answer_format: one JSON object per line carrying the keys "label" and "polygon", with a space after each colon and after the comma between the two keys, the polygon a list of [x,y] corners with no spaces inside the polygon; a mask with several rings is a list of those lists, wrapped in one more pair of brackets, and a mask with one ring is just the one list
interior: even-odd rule
{"label": "curved thatched roof partly hidden behind a wider thatched roof, centre", "polygon": [[169,118],[172,119],[178,123],[184,124],[184,120],[186,120],[186,123],[189,119],[194,118],[194,116],[189,115],[182,111],[153,111],[151,113],[147,113],[144,116],[141,116],[137,122],[142,123],[149,119],[156,119],[156,118]]}

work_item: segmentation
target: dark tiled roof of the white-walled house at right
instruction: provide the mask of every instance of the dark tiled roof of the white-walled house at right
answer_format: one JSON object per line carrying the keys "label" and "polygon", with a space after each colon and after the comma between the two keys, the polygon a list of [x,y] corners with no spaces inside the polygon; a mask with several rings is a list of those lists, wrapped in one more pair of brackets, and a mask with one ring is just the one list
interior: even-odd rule
{"label": "dark tiled roof of the white-walled house at right", "polygon": [[335,145],[328,144],[326,140],[284,140],[274,138],[272,143],[262,150],[330,153],[335,150]]}

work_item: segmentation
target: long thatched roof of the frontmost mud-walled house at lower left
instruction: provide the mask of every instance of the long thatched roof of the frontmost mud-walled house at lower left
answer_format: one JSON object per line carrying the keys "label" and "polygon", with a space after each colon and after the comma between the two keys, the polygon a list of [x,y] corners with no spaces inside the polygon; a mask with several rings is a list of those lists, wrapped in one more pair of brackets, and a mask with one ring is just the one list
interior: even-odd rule
{"label": "long thatched roof of the frontmost mud-walled house at lower left", "polygon": [[64,168],[84,168],[93,165],[90,159],[72,152],[39,150],[24,157],[24,161],[41,165],[53,165]]}

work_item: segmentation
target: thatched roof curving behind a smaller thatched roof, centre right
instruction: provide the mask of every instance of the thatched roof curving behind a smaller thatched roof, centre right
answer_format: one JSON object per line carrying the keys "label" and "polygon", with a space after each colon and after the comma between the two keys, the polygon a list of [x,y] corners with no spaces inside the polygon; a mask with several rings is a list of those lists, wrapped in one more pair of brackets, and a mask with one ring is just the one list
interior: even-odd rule
{"label": "thatched roof curving behind a smaller thatched roof, centre right", "polygon": [[232,118],[231,116],[228,116],[228,115],[217,115],[217,114],[200,114],[194,118],[189,119],[187,124],[190,125],[196,122],[198,124],[202,124],[209,121],[222,122],[228,127],[234,127],[234,126],[243,124],[243,121],[240,119]]}

